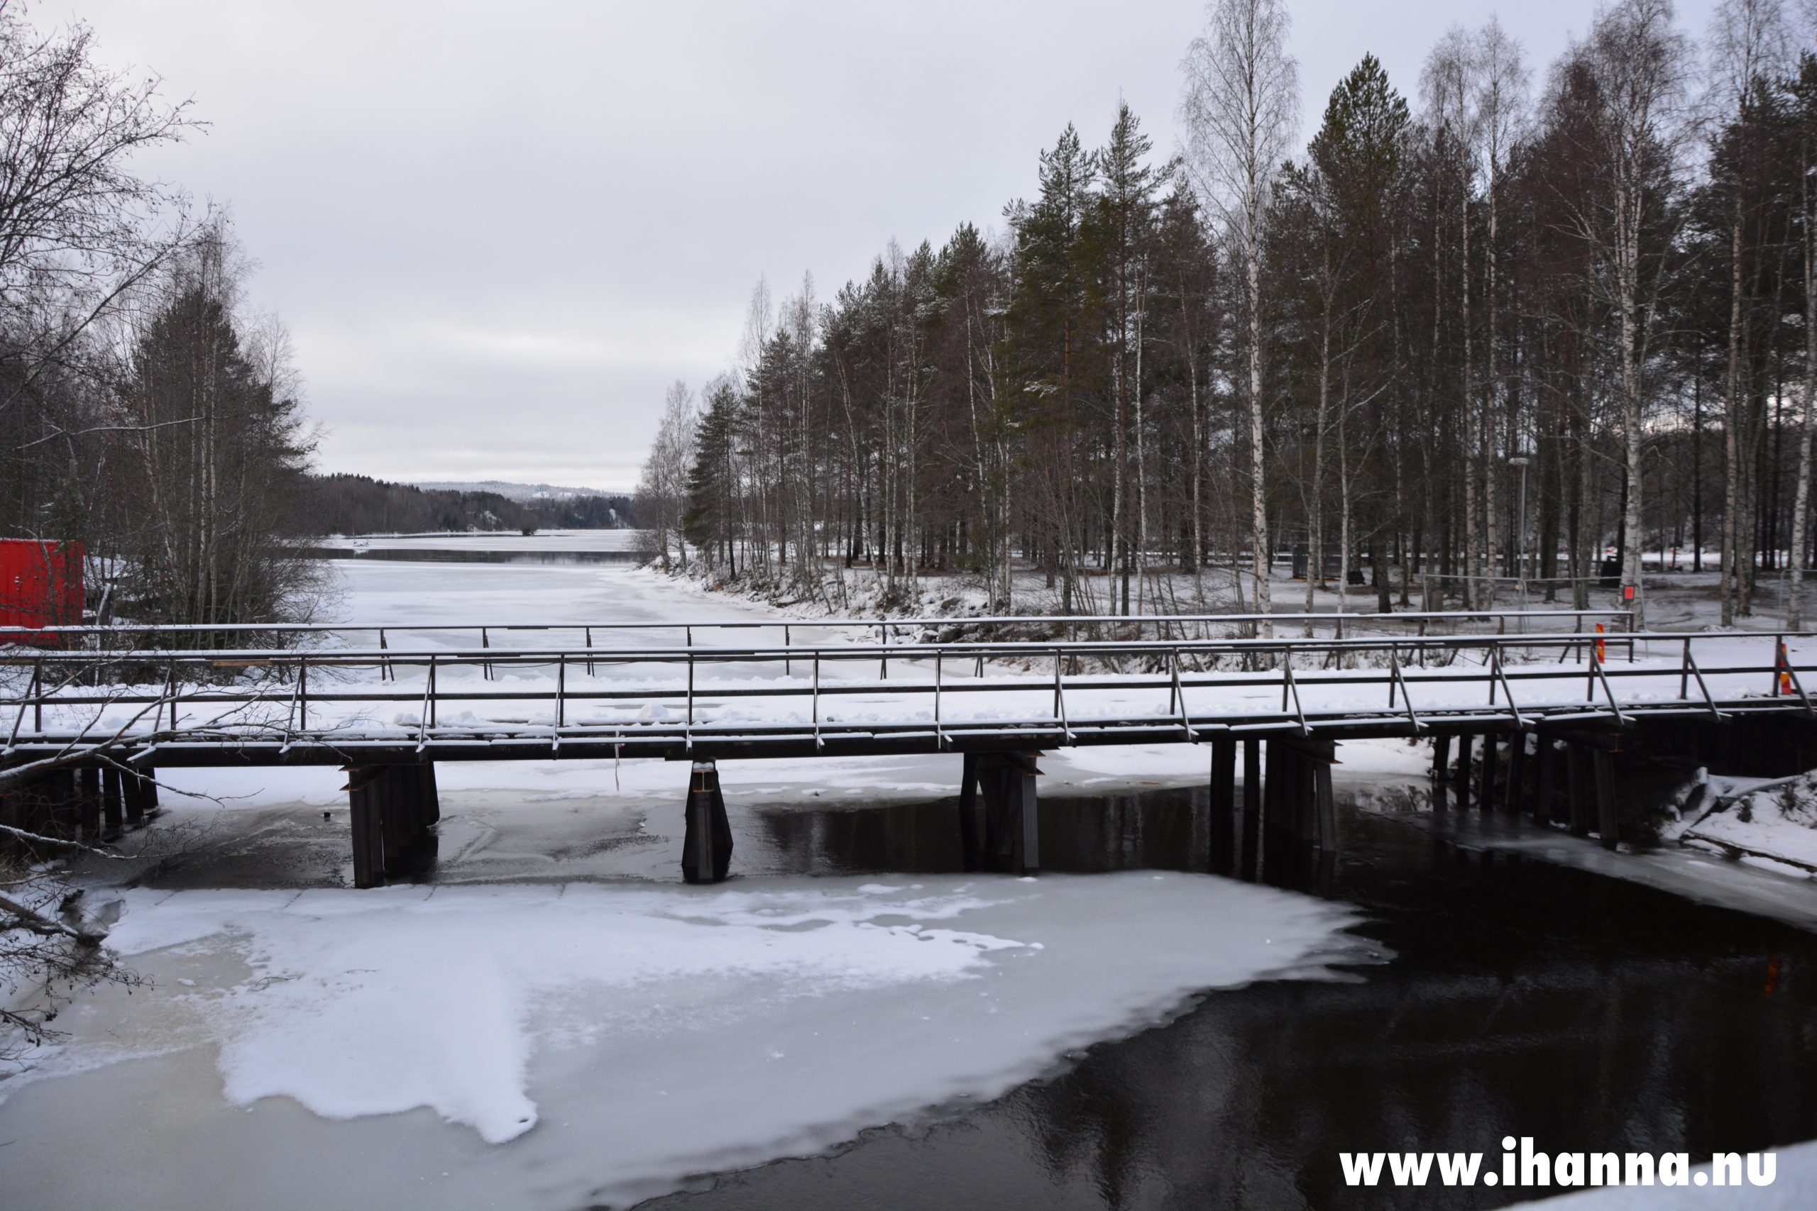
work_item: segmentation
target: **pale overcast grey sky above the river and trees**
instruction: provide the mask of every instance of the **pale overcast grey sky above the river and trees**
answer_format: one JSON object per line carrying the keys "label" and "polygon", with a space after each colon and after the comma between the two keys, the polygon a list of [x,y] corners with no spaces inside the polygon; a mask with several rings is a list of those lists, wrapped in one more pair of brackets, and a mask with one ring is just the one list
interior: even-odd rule
{"label": "pale overcast grey sky above the river and trees", "polygon": [[[1492,11],[1535,85],[1592,5],[1294,0],[1306,122],[1365,51],[1410,98]],[[1703,33],[1712,0],[1681,4]],[[630,487],[663,389],[750,289],[819,298],[892,236],[1001,227],[1117,94],[1174,143],[1197,0],[84,0],[211,127],[149,167],[233,209],[296,340],[323,470]]]}

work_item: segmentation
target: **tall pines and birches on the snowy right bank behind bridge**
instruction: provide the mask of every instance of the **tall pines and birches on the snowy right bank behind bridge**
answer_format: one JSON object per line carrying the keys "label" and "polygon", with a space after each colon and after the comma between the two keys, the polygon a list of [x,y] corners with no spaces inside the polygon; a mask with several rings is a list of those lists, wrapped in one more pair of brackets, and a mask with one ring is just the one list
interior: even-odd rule
{"label": "tall pines and birches on the snowy right bank behind bridge", "polygon": [[1812,563],[1817,60],[1777,0],[1703,38],[1615,0],[1537,78],[1494,20],[1417,80],[1363,54],[1301,149],[1281,0],[1214,0],[1181,67],[1172,154],[1121,107],[996,236],[760,283],[736,370],[669,394],[661,557],[994,608],[1032,566],[1067,612],[1268,608],[1296,546],[1381,610],[1610,574],[1644,610],[1663,561],[1721,566],[1724,621]]}

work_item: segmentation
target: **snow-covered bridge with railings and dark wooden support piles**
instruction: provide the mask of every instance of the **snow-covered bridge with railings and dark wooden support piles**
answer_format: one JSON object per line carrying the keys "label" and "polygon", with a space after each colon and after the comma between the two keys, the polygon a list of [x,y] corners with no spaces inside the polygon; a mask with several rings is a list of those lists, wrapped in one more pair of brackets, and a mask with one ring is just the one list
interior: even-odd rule
{"label": "snow-covered bridge with railings and dark wooden support piles", "polygon": [[[1350,739],[1430,737],[1461,804],[1539,819],[1564,775],[1574,832],[1606,846],[1617,759],[1802,768],[1813,635],[1633,634],[1624,621],[64,628],[47,635],[62,648],[0,650],[0,822],[105,835],[154,808],[156,768],[336,764],[354,881],[372,886],[422,850],[438,763],[663,757],[692,763],[683,873],[712,881],[730,859],[720,759],[958,753],[968,864],[1034,871],[1038,753],[1068,746],[1205,744],[1214,810],[1325,850],[1330,764]],[[1254,634],[1266,626],[1314,634]],[[779,641],[745,641],[752,630]]]}

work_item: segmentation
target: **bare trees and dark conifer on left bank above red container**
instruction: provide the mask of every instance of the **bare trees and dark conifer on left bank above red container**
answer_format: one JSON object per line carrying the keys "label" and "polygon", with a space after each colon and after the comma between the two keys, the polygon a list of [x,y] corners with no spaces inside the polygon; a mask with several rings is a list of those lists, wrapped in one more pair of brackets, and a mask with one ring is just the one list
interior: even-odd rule
{"label": "bare trees and dark conifer on left bank above red container", "polygon": [[142,176],[189,136],[158,80],[0,2],[0,536],[82,543],[111,614],[307,615],[314,436],[231,223]]}

